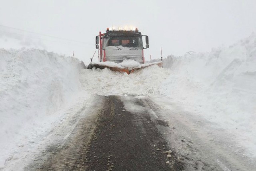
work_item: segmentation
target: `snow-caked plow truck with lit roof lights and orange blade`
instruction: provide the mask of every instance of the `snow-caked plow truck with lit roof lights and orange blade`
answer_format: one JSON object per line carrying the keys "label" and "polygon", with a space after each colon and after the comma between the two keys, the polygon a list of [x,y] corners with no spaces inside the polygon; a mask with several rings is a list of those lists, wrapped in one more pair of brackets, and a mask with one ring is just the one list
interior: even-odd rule
{"label": "snow-caked plow truck with lit roof lights and orange blade", "polygon": [[[145,47],[143,46],[142,37],[145,36]],[[138,28],[131,28],[123,30],[118,27],[118,30],[114,28],[107,28],[106,33],[99,32],[96,36],[96,49],[99,50],[99,62],[92,62],[88,65],[88,69],[92,68],[109,68],[113,71],[126,72],[130,74],[135,70],[158,65],[162,67],[162,62],[154,62],[144,64],[144,49],[149,48],[148,36],[142,35],[138,31]],[[113,65],[108,62],[122,63],[124,60],[133,60],[138,62],[139,66],[133,68],[127,68],[125,66]]]}

